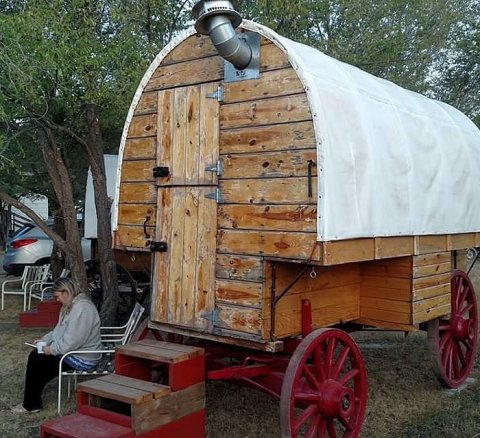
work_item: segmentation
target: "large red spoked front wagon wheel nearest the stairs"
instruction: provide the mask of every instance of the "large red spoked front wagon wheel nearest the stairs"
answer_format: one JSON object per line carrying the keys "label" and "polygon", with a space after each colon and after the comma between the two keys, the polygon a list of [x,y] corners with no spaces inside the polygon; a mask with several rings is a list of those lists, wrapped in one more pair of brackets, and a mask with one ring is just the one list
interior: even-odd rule
{"label": "large red spoked front wagon wheel nearest the stairs", "polygon": [[338,329],[315,330],[297,347],[280,396],[282,437],[357,437],[367,373],[355,341]]}

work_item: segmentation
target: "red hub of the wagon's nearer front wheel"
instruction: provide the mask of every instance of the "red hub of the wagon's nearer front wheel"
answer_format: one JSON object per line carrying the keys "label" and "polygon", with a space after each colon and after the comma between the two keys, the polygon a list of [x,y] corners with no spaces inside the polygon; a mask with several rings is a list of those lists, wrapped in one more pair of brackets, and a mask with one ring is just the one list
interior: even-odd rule
{"label": "red hub of the wagon's nearer front wheel", "polygon": [[329,418],[349,418],[355,410],[355,393],[336,380],[326,380],[320,388],[318,407]]}

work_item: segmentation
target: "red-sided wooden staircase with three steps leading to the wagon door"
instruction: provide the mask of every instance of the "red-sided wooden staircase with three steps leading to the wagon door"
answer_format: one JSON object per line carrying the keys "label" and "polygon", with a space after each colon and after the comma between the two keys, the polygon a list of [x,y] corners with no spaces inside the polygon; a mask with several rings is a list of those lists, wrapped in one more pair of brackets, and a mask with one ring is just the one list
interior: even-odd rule
{"label": "red-sided wooden staircase with three steps leading to the wagon door", "polygon": [[203,349],[147,339],[119,347],[115,374],[80,383],[77,412],[43,423],[40,436],[205,436]]}

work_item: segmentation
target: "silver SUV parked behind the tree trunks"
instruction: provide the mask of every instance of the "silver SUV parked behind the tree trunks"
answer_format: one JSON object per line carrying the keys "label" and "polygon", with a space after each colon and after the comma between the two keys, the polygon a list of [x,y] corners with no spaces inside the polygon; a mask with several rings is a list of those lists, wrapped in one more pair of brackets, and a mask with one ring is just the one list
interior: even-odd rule
{"label": "silver SUV parked behind the tree trunks", "polygon": [[[51,228],[53,221],[46,224]],[[91,241],[82,238],[83,260],[91,258]],[[22,275],[25,266],[50,263],[53,241],[34,223],[27,223],[7,240],[3,270],[7,274]]]}

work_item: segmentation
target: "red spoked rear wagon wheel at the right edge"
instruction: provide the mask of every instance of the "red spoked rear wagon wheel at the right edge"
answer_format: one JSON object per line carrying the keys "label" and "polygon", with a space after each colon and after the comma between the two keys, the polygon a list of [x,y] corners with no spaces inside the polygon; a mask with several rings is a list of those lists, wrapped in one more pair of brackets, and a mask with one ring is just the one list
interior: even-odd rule
{"label": "red spoked rear wagon wheel at the right edge", "polygon": [[469,376],[477,353],[477,300],[465,272],[453,271],[450,284],[450,318],[428,323],[428,343],[438,379],[449,388],[458,388]]}

